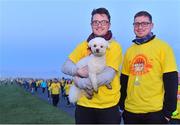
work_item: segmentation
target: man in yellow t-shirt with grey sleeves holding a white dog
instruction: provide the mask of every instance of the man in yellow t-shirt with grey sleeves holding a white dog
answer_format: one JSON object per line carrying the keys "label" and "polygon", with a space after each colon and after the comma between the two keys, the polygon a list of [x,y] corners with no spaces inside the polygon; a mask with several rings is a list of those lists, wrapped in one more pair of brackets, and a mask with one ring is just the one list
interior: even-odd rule
{"label": "man in yellow t-shirt with grey sleeves holding a white dog", "polygon": [[[110,29],[110,14],[106,8],[94,9],[91,13],[92,34],[87,40],[81,42],[69,55],[68,60],[62,67],[62,72],[74,76],[74,84],[92,97],[88,99],[82,95],[77,101],[75,110],[76,124],[120,124],[119,112],[120,98],[120,65],[122,63],[122,48],[112,38]],[[106,67],[97,75],[98,93],[93,92],[90,79],[88,78],[87,66],[77,69],[76,63],[91,54],[88,42],[102,37],[109,41],[109,49],[106,51]],[[105,85],[109,84],[112,89]]]}

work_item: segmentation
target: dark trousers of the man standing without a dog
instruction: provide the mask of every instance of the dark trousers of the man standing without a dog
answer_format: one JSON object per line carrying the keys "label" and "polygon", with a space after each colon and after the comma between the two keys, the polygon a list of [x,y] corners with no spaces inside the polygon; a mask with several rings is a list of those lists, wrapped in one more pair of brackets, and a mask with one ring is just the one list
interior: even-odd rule
{"label": "dark trousers of the man standing without a dog", "polygon": [[162,111],[150,113],[132,113],[124,111],[123,113],[124,124],[167,124]]}

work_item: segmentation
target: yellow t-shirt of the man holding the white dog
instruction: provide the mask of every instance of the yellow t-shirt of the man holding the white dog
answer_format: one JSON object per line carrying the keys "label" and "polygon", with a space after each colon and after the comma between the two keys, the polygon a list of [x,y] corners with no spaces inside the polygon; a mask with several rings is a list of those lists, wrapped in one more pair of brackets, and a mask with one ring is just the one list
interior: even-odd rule
{"label": "yellow t-shirt of the man holding the white dog", "polygon": [[[98,93],[94,93],[92,99],[87,99],[84,95],[78,100],[77,104],[91,108],[109,108],[115,106],[120,98],[120,65],[122,63],[122,48],[115,40],[110,40],[110,48],[106,51],[106,65],[112,67],[116,71],[116,75],[110,83],[112,89],[101,86]],[[70,54],[69,59],[77,63],[80,59],[89,55],[87,41],[80,43],[77,48]]]}

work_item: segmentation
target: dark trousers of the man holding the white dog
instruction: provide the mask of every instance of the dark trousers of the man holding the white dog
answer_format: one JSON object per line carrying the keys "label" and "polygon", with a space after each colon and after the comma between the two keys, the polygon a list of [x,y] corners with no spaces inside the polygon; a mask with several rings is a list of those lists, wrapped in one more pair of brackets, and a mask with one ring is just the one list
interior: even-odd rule
{"label": "dark trousers of the man holding the white dog", "polygon": [[121,114],[118,106],[97,109],[76,105],[76,124],[120,124]]}

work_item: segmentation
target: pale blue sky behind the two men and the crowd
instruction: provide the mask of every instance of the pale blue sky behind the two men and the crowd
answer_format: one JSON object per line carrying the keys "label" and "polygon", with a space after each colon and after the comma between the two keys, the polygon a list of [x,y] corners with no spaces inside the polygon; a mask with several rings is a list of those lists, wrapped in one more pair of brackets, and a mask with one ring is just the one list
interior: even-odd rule
{"label": "pale blue sky behind the two men and the crowd", "polygon": [[91,33],[91,11],[99,7],[109,10],[123,52],[134,39],[134,14],[149,11],[154,34],[172,46],[180,68],[180,0],[0,0],[0,77],[62,77],[62,64]]}

